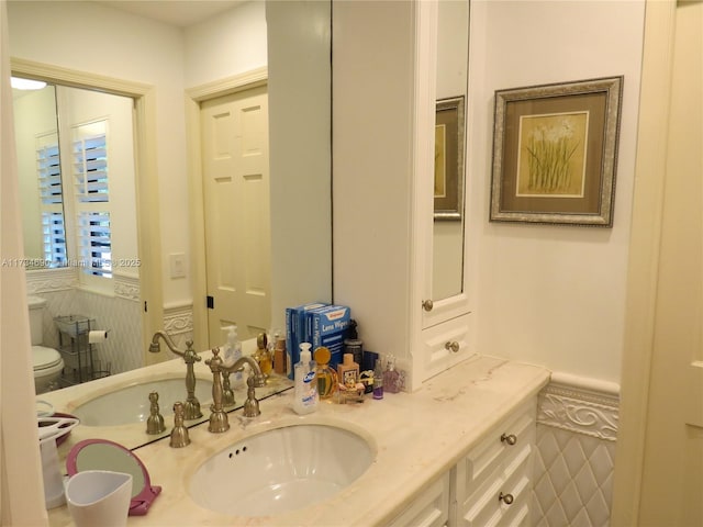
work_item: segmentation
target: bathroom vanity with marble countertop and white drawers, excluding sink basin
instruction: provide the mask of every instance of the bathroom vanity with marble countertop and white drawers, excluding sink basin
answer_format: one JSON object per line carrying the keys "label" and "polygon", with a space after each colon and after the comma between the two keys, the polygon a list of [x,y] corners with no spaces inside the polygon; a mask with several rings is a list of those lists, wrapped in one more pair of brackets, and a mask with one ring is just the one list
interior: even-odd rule
{"label": "bathroom vanity with marble countertop and white drawers, excluding sink basin", "polygon": [[[475,356],[413,393],[323,402],[305,416],[293,413],[292,393],[284,391],[261,401],[258,417],[231,413],[226,433],[209,433],[203,423],[190,428],[185,448],[170,448],[164,438],[135,449],[163,491],[147,515],[131,516],[127,525],[528,525],[536,396],[548,380],[543,368]],[[170,429],[172,418],[166,423]],[[242,517],[196,504],[190,482],[208,459],[247,437],[301,424],[355,433],[373,460],[336,494],[287,513]],[[49,511],[49,524],[71,525],[68,509]]]}

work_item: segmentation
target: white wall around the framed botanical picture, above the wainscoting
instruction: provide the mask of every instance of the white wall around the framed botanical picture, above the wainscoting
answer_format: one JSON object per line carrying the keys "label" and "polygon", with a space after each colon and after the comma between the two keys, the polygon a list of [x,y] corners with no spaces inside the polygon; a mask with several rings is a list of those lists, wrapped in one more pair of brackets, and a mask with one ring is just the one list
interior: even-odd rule
{"label": "white wall around the framed botanical picture, above the wainscoting", "polygon": [[[644,1],[471,7],[468,256],[477,349],[620,382]],[[496,89],[624,75],[613,228],[489,223]]]}

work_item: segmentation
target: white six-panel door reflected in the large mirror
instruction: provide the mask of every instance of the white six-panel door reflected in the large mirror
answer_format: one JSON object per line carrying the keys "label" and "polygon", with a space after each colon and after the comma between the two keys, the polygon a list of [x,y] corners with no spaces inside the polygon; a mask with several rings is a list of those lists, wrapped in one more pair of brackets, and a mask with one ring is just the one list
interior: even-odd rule
{"label": "white six-panel door reflected in the large mirror", "polygon": [[253,88],[201,105],[210,343],[270,325],[268,97]]}

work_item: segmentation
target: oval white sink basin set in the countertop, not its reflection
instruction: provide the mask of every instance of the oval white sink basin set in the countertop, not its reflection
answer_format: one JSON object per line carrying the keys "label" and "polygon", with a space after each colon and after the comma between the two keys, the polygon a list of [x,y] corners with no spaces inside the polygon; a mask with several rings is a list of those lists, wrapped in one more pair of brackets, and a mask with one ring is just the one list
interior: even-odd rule
{"label": "oval white sink basin set in the countertop, not its reflection", "polygon": [[189,493],[201,507],[269,516],[326,500],[359,478],[376,457],[369,441],[326,425],[292,425],[237,441],[202,463]]}

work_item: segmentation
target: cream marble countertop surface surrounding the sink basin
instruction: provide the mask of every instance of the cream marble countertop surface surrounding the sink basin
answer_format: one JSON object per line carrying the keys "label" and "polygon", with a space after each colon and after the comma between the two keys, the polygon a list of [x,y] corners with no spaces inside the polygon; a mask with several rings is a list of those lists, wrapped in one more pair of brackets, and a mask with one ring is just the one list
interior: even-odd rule
{"label": "cream marble countertop surface surrounding the sink basin", "polygon": [[[417,391],[370,394],[362,404],[322,402],[317,412],[298,416],[291,391],[260,403],[261,415],[230,414],[231,429],[211,434],[208,425],[190,429],[191,445],[170,448],[168,439],[134,453],[163,487],[146,516],[131,516],[140,526],[371,526],[383,525],[427,483],[449,470],[507,413],[535,395],[549,372],[535,366],[475,356],[426,381]],[[209,411],[205,411],[209,414]],[[188,495],[188,481],[210,456],[249,435],[279,426],[313,423],[361,433],[377,457],[353,484],[322,503],[270,517],[236,517],[207,511]],[[344,456],[344,452],[339,452]],[[245,478],[246,475],[242,475]],[[49,525],[72,525],[66,506],[49,511]]]}

